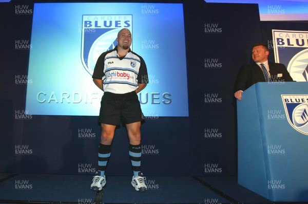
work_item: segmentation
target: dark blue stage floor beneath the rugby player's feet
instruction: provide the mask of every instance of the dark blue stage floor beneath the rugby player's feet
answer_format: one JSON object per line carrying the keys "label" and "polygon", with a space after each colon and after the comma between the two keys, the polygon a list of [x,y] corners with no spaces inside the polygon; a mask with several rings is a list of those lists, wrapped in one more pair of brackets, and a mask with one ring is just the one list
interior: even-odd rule
{"label": "dark blue stage floor beneath the rugby player's feet", "polygon": [[236,177],[148,176],[146,192],[135,191],[128,176],[107,177],[100,192],[91,182],[85,175],[0,174],[0,203],[274,203]]}

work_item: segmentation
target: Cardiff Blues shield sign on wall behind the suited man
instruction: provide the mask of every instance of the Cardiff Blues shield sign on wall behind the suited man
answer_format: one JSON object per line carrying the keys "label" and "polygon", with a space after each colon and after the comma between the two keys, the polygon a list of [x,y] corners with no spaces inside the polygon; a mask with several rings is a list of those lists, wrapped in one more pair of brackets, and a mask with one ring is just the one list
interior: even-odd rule
{"label": "Cardiff Blues shield sign on wall behind the suited man", "polygon": [[275,61],[287,66],[294,81],[308,81],[308,31],[272,30]]}

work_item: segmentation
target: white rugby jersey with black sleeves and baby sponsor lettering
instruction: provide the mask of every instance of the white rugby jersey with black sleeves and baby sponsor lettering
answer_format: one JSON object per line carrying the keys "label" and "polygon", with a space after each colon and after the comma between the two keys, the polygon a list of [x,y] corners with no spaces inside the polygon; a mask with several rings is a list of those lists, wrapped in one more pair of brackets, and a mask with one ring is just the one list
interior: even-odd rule
{"label": "white rugby jersey with black sleeves and baby sponsor lettering", "polygon": [[129,50],[125,57],[119,58],[117,47],[100,55],[92,78],[103,79],[103,90],[113,94],[125,94],[136,90],[138,83],[148,83],[142,57]]}

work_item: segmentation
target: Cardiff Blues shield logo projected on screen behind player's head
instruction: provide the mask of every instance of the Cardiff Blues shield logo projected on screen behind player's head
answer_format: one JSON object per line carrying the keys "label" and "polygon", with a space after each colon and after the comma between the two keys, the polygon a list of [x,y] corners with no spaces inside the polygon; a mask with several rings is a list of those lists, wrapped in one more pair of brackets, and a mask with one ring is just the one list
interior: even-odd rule
{"label": "Cardiff Blues shield logo projected on screen behind player's head", "polygon": [[132,30],[132,15],[83,15],[81,60],[92,76],[100,55],[117,46],[118,32]]}

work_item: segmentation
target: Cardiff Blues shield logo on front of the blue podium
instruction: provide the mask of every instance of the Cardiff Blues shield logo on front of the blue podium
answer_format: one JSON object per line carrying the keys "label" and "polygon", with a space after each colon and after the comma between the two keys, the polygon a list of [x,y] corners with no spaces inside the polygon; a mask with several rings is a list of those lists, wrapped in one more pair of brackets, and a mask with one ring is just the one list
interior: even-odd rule
{"label": "Cardiff Blues shield logo on front of the blue podium", "polygon": [[298,132],[308,135],[308,95],[281,95],[287,120]]}

